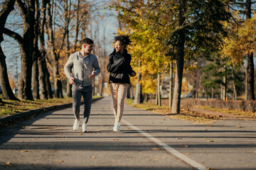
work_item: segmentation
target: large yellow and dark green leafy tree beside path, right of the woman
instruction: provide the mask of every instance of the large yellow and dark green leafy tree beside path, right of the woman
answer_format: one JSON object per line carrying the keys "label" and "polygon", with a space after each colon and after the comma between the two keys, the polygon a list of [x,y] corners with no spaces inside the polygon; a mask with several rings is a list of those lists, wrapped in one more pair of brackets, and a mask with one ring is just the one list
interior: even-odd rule
{"label": "large yellow and dark green leafy tree beside path, right of the woman", "polygon": [[169,62],[176,60],[172,113],[179,113],[184,59],[210,57],[218,49],[218,38],[225,33],[220,21],[229,17],[224,1],[132,1],[129,6],[119,7],[121,17],[128,28],[132,27],[132,34],[141,35],[137,44],[152,58],[147,65],[156,64],[159,72],[166,49],[173,49],[169,55]]}

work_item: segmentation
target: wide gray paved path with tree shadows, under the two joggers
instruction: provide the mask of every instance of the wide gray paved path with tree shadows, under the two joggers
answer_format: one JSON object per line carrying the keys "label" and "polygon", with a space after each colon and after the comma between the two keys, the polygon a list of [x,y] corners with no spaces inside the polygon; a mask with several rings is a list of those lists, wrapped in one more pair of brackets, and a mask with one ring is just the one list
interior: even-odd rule
{"label": "wide gray paved path with tree shadows, under the two joggers", "polygon": [[73,131],[72,108],[0,131],[0,169],[256,169],[256,123],[210,125],[125,106],[113,132],[110,97],[92,104],[90,132]]}

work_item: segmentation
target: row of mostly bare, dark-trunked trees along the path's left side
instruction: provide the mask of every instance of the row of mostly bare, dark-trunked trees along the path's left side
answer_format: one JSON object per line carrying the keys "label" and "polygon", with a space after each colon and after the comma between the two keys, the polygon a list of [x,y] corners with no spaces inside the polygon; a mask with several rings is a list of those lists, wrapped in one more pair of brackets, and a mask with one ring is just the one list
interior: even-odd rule
{"label": "row of mostly bare, dark-trunked trees along the path's left side", "polygon": [[[7,0],[1,2],[0,42],[4,40],[3,34],[8,35],[18,42],[20,49],[21,74],[18,80],[18,98],[33,100],[33,98],[53,98],[53,95],[61,98],[63,86],[67,88],[67,96],[71,96],[71,86],[66,81],[63,66],[69,55],[80,49],[80,39],[86,36],[95,40],[96,45],[102,46],[97,48],[95,53],[99,57],[104,56],[100,62],[104,67],[107,55],[106,47],[102,45],[106,43],[105,30],[102,35],[103,42],[100,44],[100,28],[95,28],[93,32],[89,29],[92,27],[90,22],[92,13],[98,11],[98,8],[101,6],[90,4],[86,0]],[[21,17],[14,16],[6,23],[7,17],[13,10],[13,15],[18,14]],[[95,14],[94,17],[97,17],[100,25],[100,20],[103,19],[102,14]],[[21,19],[22,23],[20,23]],[[92,37],[93,35],[97,37]],[[2,98],[18,100],[9,84],[6,56],[1,47],[0,55]],[[102,71],[105,70],[102,69]],[[52,89],[54,89],[54,94]]]}

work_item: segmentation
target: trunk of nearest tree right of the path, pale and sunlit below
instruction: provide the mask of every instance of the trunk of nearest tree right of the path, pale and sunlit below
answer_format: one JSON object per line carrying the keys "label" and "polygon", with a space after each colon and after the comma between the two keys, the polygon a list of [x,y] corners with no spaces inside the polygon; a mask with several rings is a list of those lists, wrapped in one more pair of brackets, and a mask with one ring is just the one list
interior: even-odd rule
{"label": "trunk of nearest tree right of the path, pale and sunlit below", "polygon": [[[183,26],[185,18],[183,17],[185,0],[180,0],[179,7],[179,21],[178,25]],[[185,33],[181,30],[178,38],[177,45],[177,57],[176,57],[176,74],[174,82],[174,101],[171,108],[171,113],[178,114],[181,110],[181,86],[183,77],[183,67],[184,67],[184,44],[185,44]]]}

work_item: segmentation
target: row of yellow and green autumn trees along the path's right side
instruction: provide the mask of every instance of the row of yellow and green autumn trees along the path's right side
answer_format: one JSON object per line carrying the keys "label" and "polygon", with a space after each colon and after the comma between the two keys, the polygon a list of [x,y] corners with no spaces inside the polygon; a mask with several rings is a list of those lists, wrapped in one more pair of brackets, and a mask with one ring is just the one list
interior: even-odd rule
{"label": "row of yellow and green autumn trees along the path's right side", "polygon": [[[204,85],[207,90],[214,89],[218,82],[223,89],[222,98],[226,95],[225,70],[232,69],[235,75],[242,63],[246,62],[245,96],[247,100],[255,99],[253,52],[256,25],[255,16],[252,18],[254,4],[255,1],[251,0],[137,0],[123,1],[122,5],[110,8],[121,11],[119,19],[124,23],[124,28],[119,33],[130,33],[132,37],[133,45],[130,50],[134,57],[134,67],[138,66],[138,83],[142,83],[142,89],[146,91],[157,86],[157,99],[160,98],[160,75],[169,74],[169,103],[170,106],[172,103],[172,113],[179,113],[183,72],[198,70],[195,69],[195,63],[200,58],[211,63],[220,63],[221,71],[218,72],[223,73],[223,79],[218,82],[213,81],[213,77],[207,77],[212,82],[204,82]],[[173,64],[176,64],[175,68]],[[196,64],[196,67],[200,65]],[[205,69],[206,74],[208,71]],[[235,77],[233,78],[235,81]],[[148,81],[152,82],[154,79],[157,82],[149,87]],[[156,101],[161,104],[160,100]]]}

